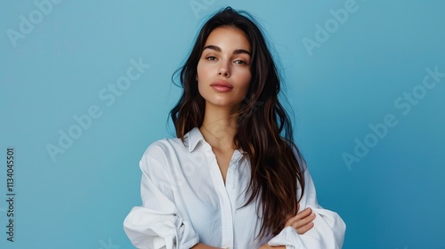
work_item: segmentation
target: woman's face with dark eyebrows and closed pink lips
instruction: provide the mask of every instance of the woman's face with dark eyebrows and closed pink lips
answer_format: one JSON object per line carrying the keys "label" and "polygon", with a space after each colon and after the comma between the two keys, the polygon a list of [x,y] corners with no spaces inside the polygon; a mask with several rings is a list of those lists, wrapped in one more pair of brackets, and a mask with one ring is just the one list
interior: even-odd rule
{"label": "woman's face with dark eyebrows and closed pink lips", "polygon": [[252,77],[251,49],[238,28],[215,28],[198,61],[198,91],[207,105],[238,110]]}

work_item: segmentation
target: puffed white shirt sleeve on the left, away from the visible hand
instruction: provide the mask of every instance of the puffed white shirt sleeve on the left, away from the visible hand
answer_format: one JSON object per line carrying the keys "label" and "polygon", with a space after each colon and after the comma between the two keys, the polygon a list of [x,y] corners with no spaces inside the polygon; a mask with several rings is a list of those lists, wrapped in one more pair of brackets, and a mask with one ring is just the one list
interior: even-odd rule
{"label": "puffed white shirt sleeve on the left, away from the visible hand", "polygon": [[139,163],[142,206],[135,206],[124,221],[126,235],[139,249],[190,248],[199,242],[174,204],[166,162],[165,151],[154,143]]}

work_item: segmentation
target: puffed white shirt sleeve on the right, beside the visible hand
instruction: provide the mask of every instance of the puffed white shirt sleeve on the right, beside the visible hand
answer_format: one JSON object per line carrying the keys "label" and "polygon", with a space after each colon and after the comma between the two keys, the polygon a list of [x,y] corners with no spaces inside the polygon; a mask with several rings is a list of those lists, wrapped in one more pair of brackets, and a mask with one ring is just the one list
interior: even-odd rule
{"label": "puffed white shirt sleeve on the right, beside the visible hand", "polygon": [[[334,249],[342,248],[346,225],[335,212],[322,208],[318,202],[311,173],[304,169],[305,189],[300,201],[300,211],[311,207],[316,217],[314,226],[303,235],[296,233],[292,227],[281,230],[279,235],[269,241],[269,245],[286,245],[287,249]],[[299,188],[299,194],[301,188]]]}

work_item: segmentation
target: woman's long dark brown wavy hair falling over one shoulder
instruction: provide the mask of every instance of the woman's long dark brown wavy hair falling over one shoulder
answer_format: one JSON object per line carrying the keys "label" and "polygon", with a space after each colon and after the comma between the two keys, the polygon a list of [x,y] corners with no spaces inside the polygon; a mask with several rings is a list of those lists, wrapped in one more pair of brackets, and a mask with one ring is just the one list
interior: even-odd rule
{"label": "woman's long dark brown wavy hair falling over one shoulder", "polygon": [[[176,136],[182,141],[185,133],[202,125],[205,100],[198,92],[197,67],[207,37],[218,27],[239,28],[251,45],[252,79],[237,113],[238,132],[234,142],[250,161],[252,175],[246,205],[259,199],[262,208],[258,212],[263,214],[259,235],[277,235],[284,228],[287,216],[295,215],[297,202],[303,196],[303,157],[293,141],[289,116],[279,103],[279,74],[271,52],[262,31],[247,12],[227,7],[215,13],[200,29],[188,60],[180,68],[182,97],[170,116]],[[302,188],[302,196],[298,198],[297,184]]]}

